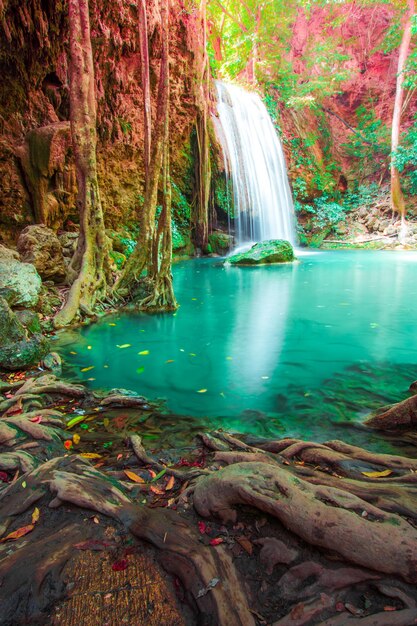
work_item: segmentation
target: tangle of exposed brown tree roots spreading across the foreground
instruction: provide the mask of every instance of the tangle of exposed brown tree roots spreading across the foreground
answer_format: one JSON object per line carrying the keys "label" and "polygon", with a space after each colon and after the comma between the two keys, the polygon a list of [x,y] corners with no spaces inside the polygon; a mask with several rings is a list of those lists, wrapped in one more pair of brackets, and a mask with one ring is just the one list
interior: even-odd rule
{"label": "tangle of exposed brown tree roots spreading across the foreground", "polygon": [[[127,451],[116,461],[115,450],[99,470],[75,454],[51,458],[64,453],[68,437],[59,411],[27,412],[29,400],[56,402],[57,389],[86,406],[147,406],[144,398],[118,393],[92,398],[54,377],[14,388],[0,419],[0,472],[10,481],[0,481],[0,540],[28,524],[35,506],[47,507],[61,525],[67,512],[90,510],[154,546],[163,567],[181,581],[184,602],[207,626],[417,624],[415,459],[341,441],[251,445],[250,438],[217,431],[201,436],[198,460],[177,466],[156,460],[132,434],[134,456]],[[133,470],[130,483],[126,468]],[[146,479],[148,470],[155,478]],[[82,536],[71,528],[75,538]],[[24,602],[45,610],[48,568],[54,597],[65,592],[53,563],[69,558],[69,537],[64,533],[59,543],[38,536],[33,531],[4,547],[0,541],[0,578],[8,580],[0,600],[10,594],[10,614],[25,614]],[[36,585],[25,586],[21,570],[9,580],[25,558],[35,567],[37,546],[46,553],[36,565]]]}

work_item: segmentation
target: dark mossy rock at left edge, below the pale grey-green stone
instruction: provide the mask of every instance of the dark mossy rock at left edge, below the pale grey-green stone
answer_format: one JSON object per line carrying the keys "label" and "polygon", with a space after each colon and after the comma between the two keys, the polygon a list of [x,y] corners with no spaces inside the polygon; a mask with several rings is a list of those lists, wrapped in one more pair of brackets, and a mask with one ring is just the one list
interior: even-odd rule
{"label": "dark mossy rock at left edge, below the pale grey-green stone", "polygon": [[49,340],[40,333],[31,334],[0,297],[0,367],[26,369],[39,363],[49,352]]}

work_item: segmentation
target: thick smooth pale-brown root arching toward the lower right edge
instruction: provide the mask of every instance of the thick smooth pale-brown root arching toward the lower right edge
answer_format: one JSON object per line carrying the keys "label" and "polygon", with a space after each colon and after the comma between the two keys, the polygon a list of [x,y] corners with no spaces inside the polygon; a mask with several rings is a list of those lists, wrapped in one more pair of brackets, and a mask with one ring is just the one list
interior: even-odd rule
{"label": "thick smooth pale-brown root arching toward the lower right edge", "polygon": [[237,463],[201,478],[193,502],[200,515],[223,522],[236,521],[239,504],[254,506],[311,545],[417,582],[417,530],[342,489],[316,487],[266,463]]}

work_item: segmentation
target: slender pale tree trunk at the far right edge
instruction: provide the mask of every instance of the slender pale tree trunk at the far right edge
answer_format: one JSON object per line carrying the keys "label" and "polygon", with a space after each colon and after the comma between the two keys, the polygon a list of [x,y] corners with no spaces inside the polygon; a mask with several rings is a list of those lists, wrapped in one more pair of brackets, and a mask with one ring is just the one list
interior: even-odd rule
{"label": "slender pale tree trunk at the far right edge", "polygon": [[405,221],[405,202],[401,190],[400,173],[395,166],[395,151],[399,145],[400,125],[401,125],[401,109],[404,100],[404,67],[407,61],[410,41],[411,41],[411,18],[414,15],[414,0],[407,0],[407,13],[405,16],[405,26],[403,37],[401,40],[398,68],[397,68],[397,86],[395,92],[394,112],[392,116],[392,135],[391,135],[391,206],[392,210],[401,215],[401,221],[404,225]]}

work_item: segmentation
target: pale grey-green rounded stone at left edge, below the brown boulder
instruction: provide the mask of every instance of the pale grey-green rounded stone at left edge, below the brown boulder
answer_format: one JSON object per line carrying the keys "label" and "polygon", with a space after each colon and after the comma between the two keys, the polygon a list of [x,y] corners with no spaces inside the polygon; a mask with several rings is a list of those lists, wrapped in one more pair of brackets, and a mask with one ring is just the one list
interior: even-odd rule
{"label": "pale grey-green rounded stone at left edge, below the brown boulder", "polygon": [[10,306],[36,306],[41,286],[42,279],[30,263],[0,259],[0,289],[7,292]]}

